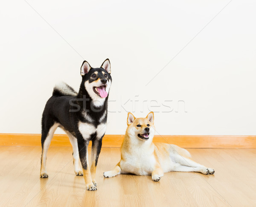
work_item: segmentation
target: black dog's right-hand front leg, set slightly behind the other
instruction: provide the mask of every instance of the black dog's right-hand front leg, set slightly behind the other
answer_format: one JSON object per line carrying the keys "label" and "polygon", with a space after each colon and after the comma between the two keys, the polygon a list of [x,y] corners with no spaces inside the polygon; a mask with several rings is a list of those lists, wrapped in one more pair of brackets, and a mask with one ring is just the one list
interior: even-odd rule
{"label": "black dog's right-hand front leg, set slightly behind the other", "polygon": [[95,174],[96,174],[96,167],[99,159],[99,153],[102,147],[102,138],[101,139],[94,139],[92,144],[92,152],[91,152],[91,167],[90,172],[93,180],[93,184],[97,186],[95,181]]}

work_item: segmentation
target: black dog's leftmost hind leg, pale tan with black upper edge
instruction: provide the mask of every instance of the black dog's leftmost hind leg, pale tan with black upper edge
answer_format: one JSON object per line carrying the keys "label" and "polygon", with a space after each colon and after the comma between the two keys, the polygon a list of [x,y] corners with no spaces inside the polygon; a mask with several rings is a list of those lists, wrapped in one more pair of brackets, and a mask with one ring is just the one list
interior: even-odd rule
{"label": "black dog's leftmost hind leg, pale tan with black upper edge", "polygon": [[41,136],[42,155],[41,155],[40,178],[48,178],[48,174],[46,170],[47,151],[49,149],[53,134],[57,127],[58,127],[58,124],[55,123],[51,127],[49,127],[49,130],[47,130],[47,128],[42,129],[42,136]]}

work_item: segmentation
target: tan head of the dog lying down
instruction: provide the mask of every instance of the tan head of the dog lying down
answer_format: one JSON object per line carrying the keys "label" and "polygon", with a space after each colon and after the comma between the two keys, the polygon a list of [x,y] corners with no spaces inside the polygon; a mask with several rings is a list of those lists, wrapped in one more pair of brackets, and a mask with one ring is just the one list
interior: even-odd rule
{"label": "tan head of the dog lying down", "polygon": [[154,113],[150,112],[146,118],[135,118],[132,113],[128,113],[127,132],[131,139],[136,138],[143,141],[152,141],[154,137]]}

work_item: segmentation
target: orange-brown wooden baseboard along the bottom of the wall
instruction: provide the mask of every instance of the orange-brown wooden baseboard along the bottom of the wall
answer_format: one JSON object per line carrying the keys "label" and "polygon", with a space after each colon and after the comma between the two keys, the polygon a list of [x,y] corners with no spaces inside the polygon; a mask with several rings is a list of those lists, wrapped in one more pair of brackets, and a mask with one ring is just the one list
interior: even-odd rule
{"label": "orange-brown wooden baseboard along the bottom of the wall", "polygon": [[[121,147],[124,135],[108,135],[102,147]],[[256,148],[256,136],[155,135],[154,142],[184,148]],[[0,146],[41,146],[41,134],[0,133]],[[55,134],[52,147],[71,147],[66,134]]]}

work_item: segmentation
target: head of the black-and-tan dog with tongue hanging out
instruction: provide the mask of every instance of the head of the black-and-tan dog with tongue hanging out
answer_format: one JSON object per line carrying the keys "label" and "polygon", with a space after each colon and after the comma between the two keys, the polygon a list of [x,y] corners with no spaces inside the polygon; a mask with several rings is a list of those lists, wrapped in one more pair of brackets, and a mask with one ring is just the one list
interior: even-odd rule
{"label": "head of the black-and-tan dog with tongue hanging out", "polygon": [[82,84],[88,92],[93,103],[96,106],[101,106],[108,97],[108,92],[111,86],[111,65],[106,59],[100,68],[92,68],[87,61],[84,61],[81,66]]}

